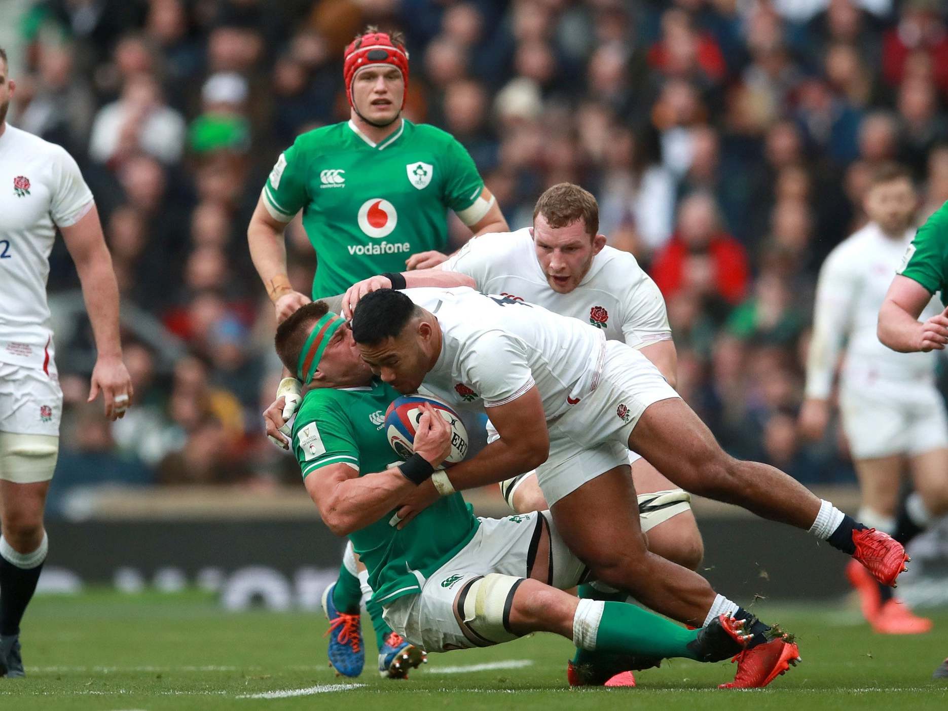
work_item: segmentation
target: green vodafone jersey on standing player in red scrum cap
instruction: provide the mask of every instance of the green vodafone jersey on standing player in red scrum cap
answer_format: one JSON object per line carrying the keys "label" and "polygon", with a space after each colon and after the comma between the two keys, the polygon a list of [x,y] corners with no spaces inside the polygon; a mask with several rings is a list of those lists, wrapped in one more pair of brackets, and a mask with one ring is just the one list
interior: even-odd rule
{"label": "green vodafone jersey on standing player in red scrum cap", "polygon": [[482,190],[474,161],[450,134],[403,119],[374,144],[346,121],[297,137],[266,181],[264,205],[282,222],[303,211],[319,299],[404,271],[416,252],[444,250],[447,209],[466,210]]}

